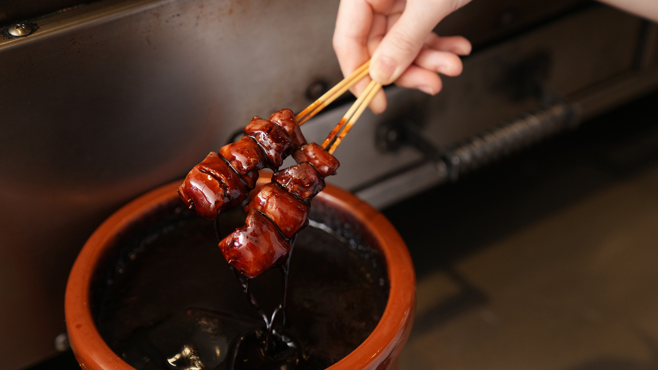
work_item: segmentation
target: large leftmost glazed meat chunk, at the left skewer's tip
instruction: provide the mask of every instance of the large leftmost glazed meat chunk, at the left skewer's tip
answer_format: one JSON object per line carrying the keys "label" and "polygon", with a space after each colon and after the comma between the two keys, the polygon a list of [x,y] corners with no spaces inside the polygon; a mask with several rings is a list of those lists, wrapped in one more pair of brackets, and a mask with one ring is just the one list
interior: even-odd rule
{"label": "large leftmost glazed meat chunk, at the left skewer's tip", "polygon": [[209,220],[240,204],[246,193],[247,186],[240,175],[214,151],[193,167],[178,188],[180,198],[188,207]]}

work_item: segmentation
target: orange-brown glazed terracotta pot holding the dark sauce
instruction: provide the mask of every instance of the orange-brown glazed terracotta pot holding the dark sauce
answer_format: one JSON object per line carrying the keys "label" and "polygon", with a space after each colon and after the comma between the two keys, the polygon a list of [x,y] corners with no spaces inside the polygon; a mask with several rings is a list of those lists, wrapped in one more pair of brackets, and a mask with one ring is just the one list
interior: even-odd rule
{"label": "orange-brown glazed terracotta pot holding the dark sauce", "polygon": [[[268,181],[262,176],[261,184]],[[160,206],[178,199],[175,182],[157,188],[128,203],[109,217],[89,238],[73,265],[66,287],[66,327],[71,348],[83,369],[133,369],[105,344],[95,327],[91,310],[91,287],[118,234],[140,220],[153,217]],[[380,322],[370,336],[351,354],[330,367],[332,370],[395,369],[413,321],[415,275],[407,248],[389,221],[376,209],[352,194],[327,185],[314,199],[314,207],[346,211],[352,220],[367,228],[386,261],[389,299]]]}

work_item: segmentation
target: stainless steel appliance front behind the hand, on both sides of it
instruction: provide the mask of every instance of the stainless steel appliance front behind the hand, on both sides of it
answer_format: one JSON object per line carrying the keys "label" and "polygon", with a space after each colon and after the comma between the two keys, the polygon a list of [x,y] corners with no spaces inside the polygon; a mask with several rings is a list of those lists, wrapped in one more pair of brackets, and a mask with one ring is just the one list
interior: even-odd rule
{"label": "stainless steel appliance front behind the hand, on both sides of it", "polygon": [[[480,45],[463,76],[444,78],[436,97],[388,89],[390,108],[359,119],[336,151],[342,165],[331,181],[390,204],[445,179],[448,167],[427,167],[426,151],[378,148],[387,122],[411,120],[441,151],[544,109],[528,86],[593,115],[658,84],[655,25],[582,1],[542,3],[474,1],[447,18],[442,34],[464,33]],[[249,117],[299,111],[340,80],[331,47],[337,7],[338,0],[103,0],[29,19],[5,13],[0,296],[11,304],[0,304],[0,331],[11,334],[0,337],[3,366],[53,352],[68,269],[114,209],[184,176]],[[34,32],[9,36],[10,20]],[[343,104],[306,124],[307,138],[322,140]],[[407,170],[409,177],[393,176]]]}

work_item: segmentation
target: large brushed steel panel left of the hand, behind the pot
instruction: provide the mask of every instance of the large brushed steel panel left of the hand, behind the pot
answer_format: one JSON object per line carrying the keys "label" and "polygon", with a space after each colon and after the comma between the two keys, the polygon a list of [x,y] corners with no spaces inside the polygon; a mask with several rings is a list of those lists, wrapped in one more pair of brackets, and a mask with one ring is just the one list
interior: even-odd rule
{"label": "large brushed steel panel left of the hand, behind the pot", "polygon": [[100,1],[0,39],[3,367],[54,352],[70,266],[114,209],[340,80],[337,6]]}

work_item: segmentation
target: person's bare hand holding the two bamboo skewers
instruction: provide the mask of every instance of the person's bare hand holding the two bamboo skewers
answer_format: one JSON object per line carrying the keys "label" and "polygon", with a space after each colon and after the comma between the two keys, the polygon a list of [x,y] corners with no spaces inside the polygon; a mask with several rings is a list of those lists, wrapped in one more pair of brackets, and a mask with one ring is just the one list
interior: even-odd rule
{"label": "person's bare hand holding the two bamboo skewers", "polygon": [[[438,75],[461,74],[459,55],[470,53],[461,36],[440,37],[432,30],[447,14],[470,0],[341,0],[334,30],[334,50],[345,76],[370,59],[370,77],[351,91],[359,95],[372,80],[395,82],[434,95]],[[374,113],[386,109],[381,90],[370,103]]]}

